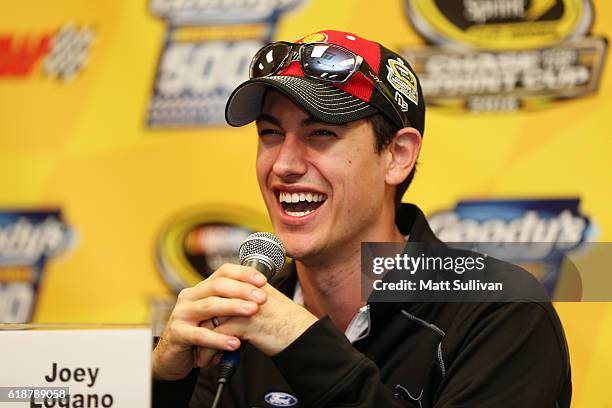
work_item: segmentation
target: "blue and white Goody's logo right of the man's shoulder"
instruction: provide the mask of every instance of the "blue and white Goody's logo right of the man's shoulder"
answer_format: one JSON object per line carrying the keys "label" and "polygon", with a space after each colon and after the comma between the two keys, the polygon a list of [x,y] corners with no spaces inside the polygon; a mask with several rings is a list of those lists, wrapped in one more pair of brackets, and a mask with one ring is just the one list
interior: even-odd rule
{"label": "blue and white Goody's logo right of the man's shoulder", "polygon": [[[593,223],[579,204],[579,198],[461,201],[432,214],[429,222],[445,242],[499,243],[504,260],[525,267],[552,296],[565,254],[594,239]],[[506,252],[504,243],[510,244]],[[520,252],[517,243],[526,244]]]}

